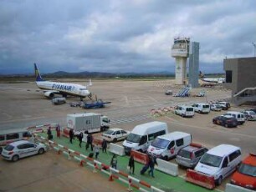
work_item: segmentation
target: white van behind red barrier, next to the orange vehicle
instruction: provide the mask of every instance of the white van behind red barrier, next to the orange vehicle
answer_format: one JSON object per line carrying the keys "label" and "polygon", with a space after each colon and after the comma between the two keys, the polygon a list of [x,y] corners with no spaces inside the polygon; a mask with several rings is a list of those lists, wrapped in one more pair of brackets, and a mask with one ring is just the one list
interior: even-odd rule
{"label": "white van behind red barrier, next to the orange vehicle", "polygon": [[214,177],[216,184],[232,174],[242,160],[241,149],[231,144],[220,144],[207,151],[195,170]]}

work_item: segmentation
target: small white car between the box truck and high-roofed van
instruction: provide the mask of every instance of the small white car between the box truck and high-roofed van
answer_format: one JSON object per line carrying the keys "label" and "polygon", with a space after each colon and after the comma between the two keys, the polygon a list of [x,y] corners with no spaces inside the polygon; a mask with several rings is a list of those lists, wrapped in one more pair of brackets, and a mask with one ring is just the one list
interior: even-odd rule
{"label": "small white car between the box truck and high-roofed van", "polygon": [[116,141],[125,139],[128,134],[130,134],[130,132],[125,131],[123,129],[112,128],[105,131],[102,134],[102,138],[108,142],[116,142]]}

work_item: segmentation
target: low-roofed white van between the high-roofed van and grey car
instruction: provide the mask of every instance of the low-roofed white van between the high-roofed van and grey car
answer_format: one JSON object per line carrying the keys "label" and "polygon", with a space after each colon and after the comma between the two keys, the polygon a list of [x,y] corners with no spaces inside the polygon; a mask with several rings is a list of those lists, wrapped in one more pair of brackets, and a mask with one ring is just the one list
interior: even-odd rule
{"label": "low-roofed white van between the high-roofed van and grey car", "polygon": [[184,132],[175,131],[170,134],[158,136],[147,149],[147,154],[160,159],[175,157],[180,149],[191,144],[192,136]]}

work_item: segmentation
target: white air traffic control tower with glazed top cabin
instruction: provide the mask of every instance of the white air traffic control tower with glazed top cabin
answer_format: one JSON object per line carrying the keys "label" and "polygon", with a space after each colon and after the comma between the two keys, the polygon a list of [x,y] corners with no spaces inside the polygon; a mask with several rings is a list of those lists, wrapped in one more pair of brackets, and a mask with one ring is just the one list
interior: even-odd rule
{"label": "white air traffic control tower with glazed top cabin", "polygon": [[172,45],[172,57],[176,60],[176,84],[185,84],[187,78],[186,63],[189,56],[189,43],[190,38],[174,38],[174,44]]}

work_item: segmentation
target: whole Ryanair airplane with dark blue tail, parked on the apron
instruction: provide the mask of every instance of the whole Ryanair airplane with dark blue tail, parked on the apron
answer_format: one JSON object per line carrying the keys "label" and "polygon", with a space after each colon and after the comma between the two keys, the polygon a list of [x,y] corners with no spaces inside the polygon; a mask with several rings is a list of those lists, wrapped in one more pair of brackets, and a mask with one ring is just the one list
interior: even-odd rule
{"label": "whole Ryanair airplane with dark blue tail, parked on the apron", "polygon": [[[77,84],[77,83],[60,83],[60,82],[54,82],[54,81],[46,81],[44,78],[41,77],[40,72],[38,70],[38,67],[36,63],[34,63],[34,73],[36,76],[36,84],[38,88],[35,89],[35,91],[43,91],[44,96],[47,98],[54,98],[55,94],[61,94],[63,97],[66,97],[67,95],[72,95],[75,97],[79,97],[81,100],[83,100],[85,97],[88,97],[91,99],[92,94],[88,90],[86,86]],[[88,86],[91,86],[91,80]],[[0,88],[1,89],[1,88]],[[28,88],[2,88],[2,89],[18,89],[18,90],[32,90]]]}

